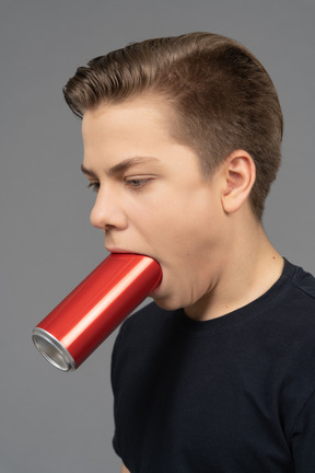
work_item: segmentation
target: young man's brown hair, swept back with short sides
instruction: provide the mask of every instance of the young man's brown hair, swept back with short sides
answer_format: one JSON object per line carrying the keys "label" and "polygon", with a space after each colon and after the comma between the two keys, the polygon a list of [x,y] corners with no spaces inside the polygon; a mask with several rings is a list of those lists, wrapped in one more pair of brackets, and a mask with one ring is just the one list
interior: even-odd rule
{"label": "young man's brown hair, swept back with short sides", "polygon": [[281,160],[282,113],[273,83],[242,45],[211,33],[135,43],[92,59],[63,88],[80,117],[101,103],[144,92],[160,94],[176,113],[173,136],[200,158],[206,176],[236,149],[256,165],[250,193],[261,219],[265,199]]}

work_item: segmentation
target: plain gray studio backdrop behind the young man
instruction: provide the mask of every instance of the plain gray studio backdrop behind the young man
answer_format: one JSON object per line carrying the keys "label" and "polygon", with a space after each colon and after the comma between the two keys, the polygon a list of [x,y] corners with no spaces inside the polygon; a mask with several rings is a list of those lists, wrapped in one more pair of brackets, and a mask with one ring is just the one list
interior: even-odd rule
{"label": "plain gray studio backdrop behind the young man", "polygon": [[120,469],[112,450],[115,335],[74,373],[50,367],[31,341],[106,255],[89,222],[93,194],[65,82],[90,58],[147,37],[212,31],[244,43],[269,70],[285,117],[265,228],[314,274],[314,0],[1,0],[0,473]]}

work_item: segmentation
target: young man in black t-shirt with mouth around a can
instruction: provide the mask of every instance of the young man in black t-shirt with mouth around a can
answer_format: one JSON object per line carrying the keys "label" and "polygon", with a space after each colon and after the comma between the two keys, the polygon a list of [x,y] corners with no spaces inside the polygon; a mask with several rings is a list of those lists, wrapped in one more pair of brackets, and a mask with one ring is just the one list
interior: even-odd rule
{"label": "young man in black t-shirt with mouth around a can", "polygon": [[113,354],[122,471],[314,472],[315,281],[261,226],[282,138],[268,73],[194,33],[96,58],[65,96],[106,249],[163,270]]}

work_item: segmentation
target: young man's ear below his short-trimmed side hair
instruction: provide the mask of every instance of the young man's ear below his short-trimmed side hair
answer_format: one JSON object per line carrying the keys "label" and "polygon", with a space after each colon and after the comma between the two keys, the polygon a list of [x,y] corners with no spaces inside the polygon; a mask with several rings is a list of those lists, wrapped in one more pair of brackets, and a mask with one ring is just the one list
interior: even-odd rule
{"label": "young man's ear below his short-trimmed side hair", "polygon": [[222,206],[226,214],[233,214],[248,199],[256,178],[256,166],[250,154],[244,150],[236,150],[225,158],[221,171]]}

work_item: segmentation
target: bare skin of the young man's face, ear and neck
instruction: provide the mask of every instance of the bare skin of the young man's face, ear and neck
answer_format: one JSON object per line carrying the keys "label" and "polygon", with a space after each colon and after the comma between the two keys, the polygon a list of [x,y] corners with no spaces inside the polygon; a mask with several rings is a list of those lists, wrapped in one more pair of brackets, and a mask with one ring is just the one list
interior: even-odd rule
{"label": "bare skin of the young man's face, ear and neck", "polygon": [[172,119],[154,95],[88,109],[82,171],[97,192],[91,222],[105,247],[155,258],[163,279],[154,301],[205,321],[266,292],[283,259],[252,212],[250,155],[233,151],[206,180],[196,152],[172,137]]}

